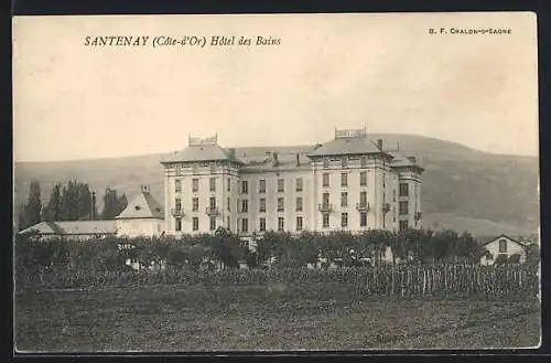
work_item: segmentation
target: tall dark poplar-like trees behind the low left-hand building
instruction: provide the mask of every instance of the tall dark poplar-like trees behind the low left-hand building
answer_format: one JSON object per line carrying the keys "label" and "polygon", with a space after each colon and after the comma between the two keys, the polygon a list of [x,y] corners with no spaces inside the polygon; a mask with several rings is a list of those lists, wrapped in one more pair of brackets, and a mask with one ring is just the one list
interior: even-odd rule
{"label": "tall dark poplar-like trees behind the low left-hand building", "polygon": [[47,203],[42,203],[41,185],[32,181],[26,203],[20,209],[18,228],[24,229],[40,222],[110,220],[122,212],[127,205],[126,193],[107,188],[104,207],[97,211],[96,195],[88,183],[69,180],[66,184],[56,182],[53,185]]}

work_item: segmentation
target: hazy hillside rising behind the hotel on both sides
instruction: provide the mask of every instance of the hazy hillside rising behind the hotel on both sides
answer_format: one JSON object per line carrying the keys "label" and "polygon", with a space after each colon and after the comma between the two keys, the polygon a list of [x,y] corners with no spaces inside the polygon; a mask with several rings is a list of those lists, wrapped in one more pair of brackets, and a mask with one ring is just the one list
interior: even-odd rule
{"label": "hazy hillside rising behind the hotel on both sides", "polygon": [[[398,142],[403,153],[415,156],[423,174],[423,224],[452,227],[474,235],[532,233],[539,225],[538,159],[500,156],[458,143],[411,135],[371,135],[387,148]],[[269,150],[269,148],[267,148]],[[132,197],[149,184],[163,202],[164,154],[65,162],[23,162],[14,170],[15,206],[25,202],[31,180],[36,179],[47,200],[55,181],[78,179],[104,194],[108,186]],[[100,197],[98,197],[100,203]]]}

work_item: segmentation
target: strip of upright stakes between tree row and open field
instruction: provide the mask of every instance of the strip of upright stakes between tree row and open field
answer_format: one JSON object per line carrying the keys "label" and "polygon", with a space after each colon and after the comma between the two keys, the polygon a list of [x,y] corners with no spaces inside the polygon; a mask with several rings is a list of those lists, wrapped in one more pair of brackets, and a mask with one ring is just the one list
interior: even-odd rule
{"label": "strip of upright stakes between tree row and open field", "polygon": [[539,268],[528,265],[399,265],[395,267],[348,267],[333,270],[230,269],[223,271],[173,270],[104,271],[53,269],[48,273],[17,275],[18,290],[36,288],[102,288],[107,286],[240,285],[259,286],[339,284],[355,290],[358,297],[537,297],[540,291]]}

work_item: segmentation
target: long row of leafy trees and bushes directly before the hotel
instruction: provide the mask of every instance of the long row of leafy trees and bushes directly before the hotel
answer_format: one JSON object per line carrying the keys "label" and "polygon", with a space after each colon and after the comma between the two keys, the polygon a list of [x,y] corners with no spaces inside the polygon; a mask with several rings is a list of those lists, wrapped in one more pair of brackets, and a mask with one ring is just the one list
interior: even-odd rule
{"label": "long row of leafy trees and bushes directly before the hotel", "polygon": [[[74,268],[118,270],[130,258],[141,266],[165,265],[170,269],[202,268],[304,268],[309,264],[325,269],[382,265],[478,264],[484,248],[465,232],[371,229],[360,234],[335,232],[268,232],[249,248],[238,235],[218,228],[214,234],[162,237],[108,237],[87,242],[57,238],[33,243],[32,235],[18,235],[18,264],[33,269],[65,261]],[[385,258],[391,249],[391,258]],[[518,264],[496,260],[495,265]],[[527,248],[527,264],[539,263],[539,248]],[[214,265],[213,265],[214,264]],[[85,267],[88,266],[88,267]],[[216,267],[218,266],[218,267]]]}

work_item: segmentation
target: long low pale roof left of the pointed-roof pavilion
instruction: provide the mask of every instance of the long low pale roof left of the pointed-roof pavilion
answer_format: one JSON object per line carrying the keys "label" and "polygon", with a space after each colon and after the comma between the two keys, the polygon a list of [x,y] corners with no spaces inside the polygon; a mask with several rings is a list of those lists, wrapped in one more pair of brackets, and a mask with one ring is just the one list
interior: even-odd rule
{"label": "long low pale roof left of the pointed-roof pavilion", "polygon": [[115,221],[41,222],[19,233],[31,232],[51,235],[115,234],[117,224]]}

